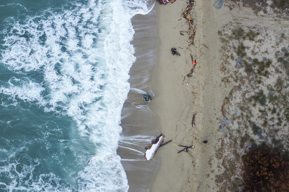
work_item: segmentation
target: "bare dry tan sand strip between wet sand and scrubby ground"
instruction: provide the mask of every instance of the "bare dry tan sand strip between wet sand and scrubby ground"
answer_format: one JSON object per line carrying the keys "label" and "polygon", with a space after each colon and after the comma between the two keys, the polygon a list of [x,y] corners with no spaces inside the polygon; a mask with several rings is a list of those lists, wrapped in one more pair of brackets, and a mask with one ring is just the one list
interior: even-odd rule
{"label": "bare dry tan sand strip between wet sand and scrubby ground", "polygon": [[[191,11],[197,26],[194,46],[188,46],[187,35],[179,34],[188,30],[184,18],[178,21],[186,1],[155,6],[159,48],[153,78],[156,96],[150,108],[159,116],[161,132],[173,143],[157,152],[161,164],[151,188],[153,192],[217,190],[216,164],[209,165],[221,137],[217,126],[225,97],[224,86],[220,84],[220,62],[217,62],[221,59],[217,32],[228,18],[215,8],[214,1],[194,3]],[[171,55],[171,47],[176,47],[181,56]],[[194,76],[188,78],[185,76],[192,68],[190,54],[198,63]],[[197,113],[195,127],[191,124],[194,113]],[[204,144],[203,140],[208,143]],[[178,145],[191,144],[194,149],[189,152],[193,157],[186,152],[177,154],[182,149]]]}

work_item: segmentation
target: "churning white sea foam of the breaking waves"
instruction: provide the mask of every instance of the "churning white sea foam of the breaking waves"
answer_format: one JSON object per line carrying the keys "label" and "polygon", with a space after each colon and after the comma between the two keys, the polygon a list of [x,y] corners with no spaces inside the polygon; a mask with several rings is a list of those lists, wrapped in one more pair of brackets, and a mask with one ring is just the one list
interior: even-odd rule
{"label": "churning white sea foam of the breaking waves", "polygon": [[[12,78],[0,87],[0,92],[15,104],[37,102],[45,111],[71,116],[79,134],[97,146],[95,157],[78,173],[79,191],[128,190],[116,150],[122,131],[121,110],[129,91],[129,69],[135,61],[130,19],[137,13],[148,13],[154,3],[153,0],[75,3],[74,10],[62,13],[46,10],[42,15],[27,18],[26,24],[14,18],[16,21],[4,39],[2,64],[15,73],[41,73],[44,79]],[[28,38],[23,37],[25,34]],[[7,171],[11,172],[16,164],[9,164]],[[24,178],[28,173],[32,176],[34,167],[30,166],[18,177]],[[9,191],[27,187],[70,190],[59,184],[60,178],[53,173],[43,173],[36,180],[30,178],[30,183],[18,188],[14,176],[10,185],[4,184]]]}

